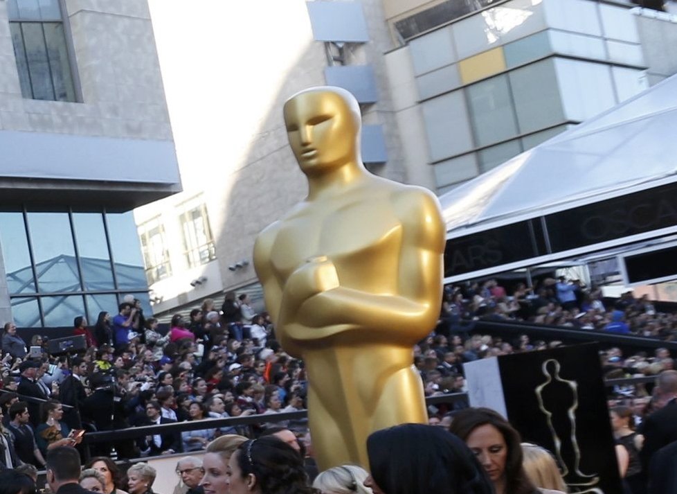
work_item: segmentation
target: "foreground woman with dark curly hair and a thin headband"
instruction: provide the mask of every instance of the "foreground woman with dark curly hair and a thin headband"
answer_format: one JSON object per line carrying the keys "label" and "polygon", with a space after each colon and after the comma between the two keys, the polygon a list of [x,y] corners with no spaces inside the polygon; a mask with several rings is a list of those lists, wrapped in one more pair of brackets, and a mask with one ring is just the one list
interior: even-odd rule
{"label": "foreground woman with dark curly hair and a thin headband", "polygon": [[314,494],[303,458],[275,436],[242,443],[228,460],[230,494]]}

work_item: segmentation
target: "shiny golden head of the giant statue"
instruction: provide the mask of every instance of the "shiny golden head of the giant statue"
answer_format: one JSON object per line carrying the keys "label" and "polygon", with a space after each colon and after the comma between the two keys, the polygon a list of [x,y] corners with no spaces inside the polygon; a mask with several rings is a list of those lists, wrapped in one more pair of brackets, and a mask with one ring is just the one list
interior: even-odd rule
{"label": "shiny golden head of the giant statue", "polygon": [[287,102],[284,115],[291,150],[304,173],[322,173],[356,159],[359,121],[339,94],[300,94]]}

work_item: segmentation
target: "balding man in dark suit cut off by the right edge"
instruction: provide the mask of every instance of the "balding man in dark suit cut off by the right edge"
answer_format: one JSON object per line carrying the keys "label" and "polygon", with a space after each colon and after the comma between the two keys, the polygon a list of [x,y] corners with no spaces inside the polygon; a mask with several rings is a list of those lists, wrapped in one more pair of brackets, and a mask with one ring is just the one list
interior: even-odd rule
{"label": "balding man in dark suit cut off by the right edge", "polygon": [[677,441],[677,371],[663,371],[656,379],[657,401],[665,406],[644,418],[640,434],[644,434],[644,446],[640,452],[642,469],[649,471],[649,463],[655,452]]}

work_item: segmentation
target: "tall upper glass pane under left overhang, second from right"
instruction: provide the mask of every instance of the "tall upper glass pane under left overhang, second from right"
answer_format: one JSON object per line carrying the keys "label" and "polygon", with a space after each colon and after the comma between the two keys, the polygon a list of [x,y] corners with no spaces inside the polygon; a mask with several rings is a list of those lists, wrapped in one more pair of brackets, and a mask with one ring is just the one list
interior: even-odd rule
{"label": "tall upper glass pane under left overhang, second from right", "polygon": [[103,215],[73,213],[75,240],[78,242],[84,290],[112,290],[113,271],[106,242]]}

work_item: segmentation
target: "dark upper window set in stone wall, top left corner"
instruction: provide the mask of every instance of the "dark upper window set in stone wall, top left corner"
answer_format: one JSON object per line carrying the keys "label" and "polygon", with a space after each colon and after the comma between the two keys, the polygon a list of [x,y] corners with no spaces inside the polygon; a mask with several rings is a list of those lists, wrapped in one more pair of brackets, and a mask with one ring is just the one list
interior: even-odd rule
{"label": "dark upper window set in stone wall, top left corner", "polygon": [[60,0],[8,0],[7,10],[21,94],[75,101]]}

